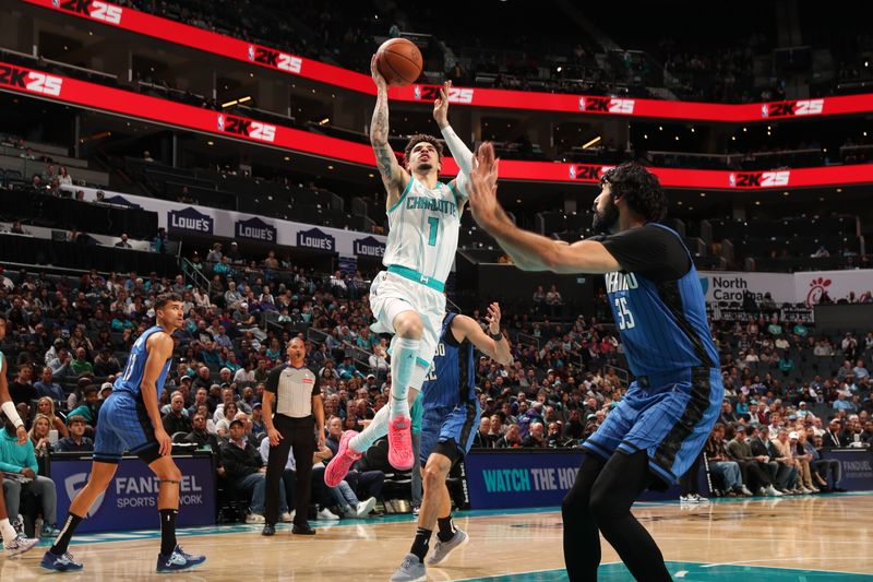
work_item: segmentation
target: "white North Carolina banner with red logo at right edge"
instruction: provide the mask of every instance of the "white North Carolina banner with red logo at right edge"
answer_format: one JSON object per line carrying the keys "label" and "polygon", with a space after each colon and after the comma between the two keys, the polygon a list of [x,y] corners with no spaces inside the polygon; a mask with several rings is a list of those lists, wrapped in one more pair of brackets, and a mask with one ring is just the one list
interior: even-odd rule
{"label": "white North Carolina banner with red logo at right edge", "polygon": [[701,271],[701,287],[708,302],[742,302],[749,292],[756,300],[769,293],[777,304],[816,305],[827,292],[833,300],[873,290],[873,271],[811,271],[809,273],[744,273]]}

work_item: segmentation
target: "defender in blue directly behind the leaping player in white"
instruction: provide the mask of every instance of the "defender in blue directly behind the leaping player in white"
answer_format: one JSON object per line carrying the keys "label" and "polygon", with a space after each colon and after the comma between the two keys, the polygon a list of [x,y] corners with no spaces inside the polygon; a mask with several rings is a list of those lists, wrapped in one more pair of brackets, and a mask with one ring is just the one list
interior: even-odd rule
{"label": "defender in blue directly behind the leaping player in white", "polygon": [[421,475],[424,495],[418,514],[418,531],[412,548],[404,557],[392,582],[424,580],[433,526],[439,525],[438,542],[428,558],[436,566],[449,554],[467,542],[466,532],[452,523],[452,499],[445,479],[452,465],[464,458],[473,446],[479,426],[481,407],[476,397],[476,361],[474,346],[500,364],[510,364],[510,343],[500,329],[500,305],[488,307],[488,334],[476,320],[446,313],[433,365],[421,389]]}

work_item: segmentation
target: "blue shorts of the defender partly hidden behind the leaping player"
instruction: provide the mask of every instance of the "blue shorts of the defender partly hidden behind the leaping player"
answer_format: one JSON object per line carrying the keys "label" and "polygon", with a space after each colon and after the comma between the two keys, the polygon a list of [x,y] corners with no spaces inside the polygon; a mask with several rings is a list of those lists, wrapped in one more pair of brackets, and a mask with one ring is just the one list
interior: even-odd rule
{"label": "blue shorts of the defender partly hidden behind the leaping player", "polygon": [[436,443],[454,440],[458,458],[464,458],[473,447],[479,428],[481,406],[478,400],[462,402],[455,406],[424,407],[421,417],[421,439],[418,456],[421,466],[428,462]]}

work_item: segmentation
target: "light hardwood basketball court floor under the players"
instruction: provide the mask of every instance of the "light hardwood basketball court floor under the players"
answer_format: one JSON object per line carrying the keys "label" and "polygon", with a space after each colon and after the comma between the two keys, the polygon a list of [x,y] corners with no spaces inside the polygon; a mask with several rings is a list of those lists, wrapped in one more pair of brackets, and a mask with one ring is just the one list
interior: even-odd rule
{"label": "light hardwood basketball court floor under the players", "polygon": [[[683,508],[678,502],[637,503],[634,513],[654,534],[674,580],[873,581],[873,492],[716,500]],[[429,580],[489,582],[565,581],[558,511],[468,511],[456,524],[470,543]],[[84,572],[39,569],[45,548],[0,559],[0,580],[181,581],[385,581],[408,551],[411,515],[313,522],[318,534],[292,536],[282,524],[272,538],[260,526],[183,528],[180,543],[208,556],[203,568],[155,574],[156,531],[87,534],[71,546]],[[630,573],[601,542],[600,580],[624,582]]]}

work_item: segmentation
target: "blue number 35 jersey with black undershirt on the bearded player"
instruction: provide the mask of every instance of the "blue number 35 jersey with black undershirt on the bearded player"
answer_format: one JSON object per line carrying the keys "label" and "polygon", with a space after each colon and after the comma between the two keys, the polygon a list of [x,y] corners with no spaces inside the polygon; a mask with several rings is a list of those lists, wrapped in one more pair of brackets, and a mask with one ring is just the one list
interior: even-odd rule
{"label": "blue number 35 jersey with black undershirt on the bearded player", "polygon": [[623,269],[606,284],[631,371],[718,367],[697,270],[679,235],[650,223],[601,242]]}

